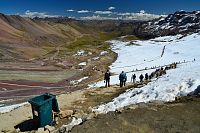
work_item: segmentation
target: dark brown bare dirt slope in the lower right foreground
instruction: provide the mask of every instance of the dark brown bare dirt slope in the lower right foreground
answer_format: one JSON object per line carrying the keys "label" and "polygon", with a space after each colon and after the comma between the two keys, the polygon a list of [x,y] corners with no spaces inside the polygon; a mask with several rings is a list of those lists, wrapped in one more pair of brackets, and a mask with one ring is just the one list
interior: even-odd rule
{"label": "dark brown bare dirt slope in the lower right foreground", "polygon": [[200,98],[183,97],[166,104],[138,104],[120,112],[98,115],[72,133],[199,133]]}

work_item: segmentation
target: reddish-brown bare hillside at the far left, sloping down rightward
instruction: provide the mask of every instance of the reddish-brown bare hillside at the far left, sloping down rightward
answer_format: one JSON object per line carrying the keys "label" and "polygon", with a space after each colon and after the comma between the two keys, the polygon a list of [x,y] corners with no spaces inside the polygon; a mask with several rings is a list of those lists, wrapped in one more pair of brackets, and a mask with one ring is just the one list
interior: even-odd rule
{"label": "reddish-brown bare hillside at the far left, sloping down rightward", "polygon": [[57,47],[82,33],[68,24],[0,14],[0,58],[30,59],[45,52],[42,47]]}

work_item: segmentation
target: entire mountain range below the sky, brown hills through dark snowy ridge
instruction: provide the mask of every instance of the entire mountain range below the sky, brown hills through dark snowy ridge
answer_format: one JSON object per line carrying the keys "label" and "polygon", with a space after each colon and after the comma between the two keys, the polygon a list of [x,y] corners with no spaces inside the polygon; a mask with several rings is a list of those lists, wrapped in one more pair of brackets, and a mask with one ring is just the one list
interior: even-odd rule
{"label": "entire mountain range below the sky, brown hills through dark snowy ridge", "polygon": [[102,32],[115,33],[113,37],[135,35],[149,39],[194,33],[199,29],[200,11],[177,11],[151,21],[75,20],[67,17],[31,19],[0,13],[0,59],[41,56],[41,48],[57,47],[83,35],[97,36]]}

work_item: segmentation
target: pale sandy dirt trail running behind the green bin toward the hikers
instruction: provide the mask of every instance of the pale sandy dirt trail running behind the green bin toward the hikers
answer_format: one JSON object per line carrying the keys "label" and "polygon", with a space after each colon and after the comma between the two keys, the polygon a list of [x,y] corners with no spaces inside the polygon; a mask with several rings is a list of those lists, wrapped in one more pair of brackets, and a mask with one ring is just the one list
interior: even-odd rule
{"label": "pale sandy dirt trail running behind the green bin toward the hikers", "polygon": [[[58,104],[62,111],[80,109],[85,113],[89,113],[89,107],[112,100],[112,98],[124,92],[130,86],[133,85],[123,88],[120,88],[119,86],[112,86],[110,88],[82,89],[71,93],[61,94],[57,96]],[[31,118],[32,112],[30,104],[11,112],[0,114],[0,131],[12,132],[15,130],[14,126]],[[60,120],[60,126],[62,124],[66,124],[67,121],[69,120]]]}

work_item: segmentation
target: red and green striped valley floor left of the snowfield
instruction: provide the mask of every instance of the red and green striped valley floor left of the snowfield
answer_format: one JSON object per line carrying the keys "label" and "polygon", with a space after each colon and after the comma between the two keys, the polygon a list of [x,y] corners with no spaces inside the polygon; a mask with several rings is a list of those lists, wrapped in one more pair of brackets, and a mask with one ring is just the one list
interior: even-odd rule
{"label": "red and green striped valley floor left of the snowfield", "polygon": [[[87,65],[81,69],[61,69],[51,64],[41,66],[37,61],[32,63],[0,63],[2,67],[2,70],[0,70],[2,75],[0,77],[0,101],[6,100],[3,104],[10,105],[27,101],[29,98],[42,93],[58,95],[83,89],[89,83],[102,78],[107,66],[115,60],[116,54],[111,52],[97,61],[88,61],[88,58],[92,57],[77,57],[76,62],[87,61]],[[89,78],[79,83],[79,85],[70,83],[70,81],[78,80],[85,76]]]}

